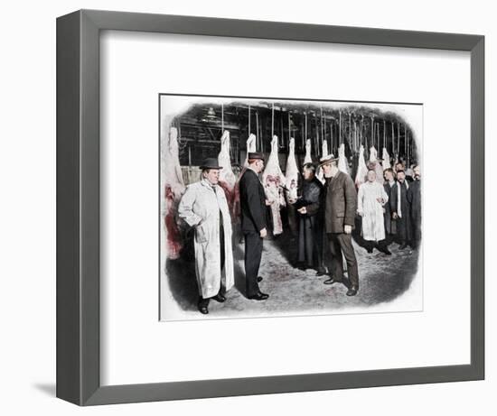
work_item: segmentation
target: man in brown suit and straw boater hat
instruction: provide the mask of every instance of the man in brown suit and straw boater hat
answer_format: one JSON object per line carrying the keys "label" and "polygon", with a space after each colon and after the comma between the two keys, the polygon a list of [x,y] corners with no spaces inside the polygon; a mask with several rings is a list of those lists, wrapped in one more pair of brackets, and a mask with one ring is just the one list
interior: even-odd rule
{"label": "man in brown suit and straw boater hat", "polygon": [[333,154],[321,158],[326,180],[324,190],[324,228],[332,254],[332,276],[325,284],[343,282],[342,255],[347,263],[349,281],[347,296],[359,291],[359,271],[352,246],[352,229],[357,210],[357,194],[352,178],[338,170],[338,158]]}

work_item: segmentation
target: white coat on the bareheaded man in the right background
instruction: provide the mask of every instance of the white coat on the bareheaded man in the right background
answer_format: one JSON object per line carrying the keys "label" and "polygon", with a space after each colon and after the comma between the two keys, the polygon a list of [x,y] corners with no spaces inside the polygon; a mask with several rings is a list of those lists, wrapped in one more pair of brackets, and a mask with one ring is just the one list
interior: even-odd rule
{"label": "white coat on the bareheaded man in the right background", "polygon": [[[383,204],[377,198],[383,199]],[[389,200],[380,182],[366,181],[357,193],[357,211],[362,216],[362,237],[368,241],[380,241],[385,238],[383,205]]]}

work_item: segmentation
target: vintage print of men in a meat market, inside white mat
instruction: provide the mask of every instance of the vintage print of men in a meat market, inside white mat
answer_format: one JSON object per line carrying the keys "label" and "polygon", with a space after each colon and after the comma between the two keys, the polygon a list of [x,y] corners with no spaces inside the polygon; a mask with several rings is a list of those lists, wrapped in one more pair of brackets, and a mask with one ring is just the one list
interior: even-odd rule
{"label": "vintage print of men in a meat market, inside white mat", "polygon": [[423,309],[422,104],[158,106],[161,320]]}

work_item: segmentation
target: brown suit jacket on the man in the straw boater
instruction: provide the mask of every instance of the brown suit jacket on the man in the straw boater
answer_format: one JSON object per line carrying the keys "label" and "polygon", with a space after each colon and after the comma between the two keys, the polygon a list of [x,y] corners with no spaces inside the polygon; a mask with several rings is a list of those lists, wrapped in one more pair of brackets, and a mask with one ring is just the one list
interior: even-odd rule
{"label": "brown suit jacket on the man in the straw boater", "polygon": [[324,225],[326,233],[343,233],[344,226],[355,227],[357,192],[352,178],[342,172],[324,186]]}

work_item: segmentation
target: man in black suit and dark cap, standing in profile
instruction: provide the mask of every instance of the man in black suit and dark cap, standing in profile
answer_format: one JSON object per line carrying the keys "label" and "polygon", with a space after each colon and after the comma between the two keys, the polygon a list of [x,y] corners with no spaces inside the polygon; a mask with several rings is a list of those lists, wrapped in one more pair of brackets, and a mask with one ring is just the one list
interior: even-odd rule
{"label": "man in black suit and dark cap, standing in profile", "polygon": [[245,237],[245,279],[248,299],[267,300],[260,291],[258,269],[262,257],[262,239],[267,236],[267,209],[264,187],[258,174],[264,169],[262,153],[248,153],[248,168],[239,180],[241,231]]}

